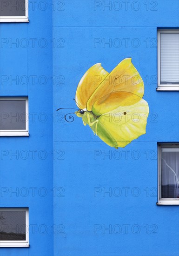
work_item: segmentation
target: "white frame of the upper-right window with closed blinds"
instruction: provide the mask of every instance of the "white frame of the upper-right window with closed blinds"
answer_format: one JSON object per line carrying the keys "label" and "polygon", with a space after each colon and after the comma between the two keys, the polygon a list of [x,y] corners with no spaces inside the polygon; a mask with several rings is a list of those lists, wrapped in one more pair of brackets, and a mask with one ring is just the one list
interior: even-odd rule
{"label": "white frame of the upper-right window with closed blinds", "polygon": [[159,29],[157,31],[157,65],[158,65],[158,87],[157,91],[179,91],[179,84],[161,84],[160,80],[160,34],[179,33],[179,29]]}

